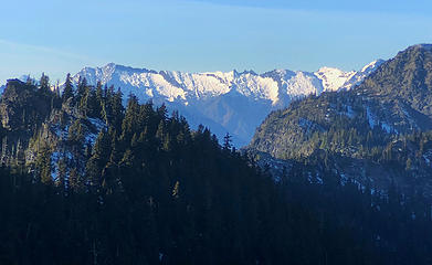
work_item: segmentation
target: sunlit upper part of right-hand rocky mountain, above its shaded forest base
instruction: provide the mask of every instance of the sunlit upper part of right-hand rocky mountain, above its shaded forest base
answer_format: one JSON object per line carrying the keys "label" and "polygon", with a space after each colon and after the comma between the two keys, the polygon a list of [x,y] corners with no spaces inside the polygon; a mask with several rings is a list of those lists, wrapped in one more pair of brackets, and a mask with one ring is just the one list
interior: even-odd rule
{"label": "sunlit upper part of right-hand rocky mountain, above its shaded forest base", "polygon": [[309,96],[272,113],[250,146],[283,159],[316,149],[369,157],[398,135],[431,130],[431,95],[432,50],[411,46],[351,91]]}

